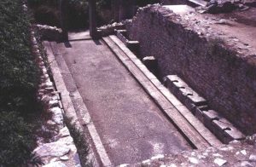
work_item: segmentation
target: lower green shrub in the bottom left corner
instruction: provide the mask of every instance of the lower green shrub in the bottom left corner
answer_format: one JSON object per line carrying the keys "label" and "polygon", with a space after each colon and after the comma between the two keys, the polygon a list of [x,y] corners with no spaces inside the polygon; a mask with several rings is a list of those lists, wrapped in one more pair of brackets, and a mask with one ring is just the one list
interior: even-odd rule
{"label": "lower green shrub in the bottom left corner", "polygon": [[32,125],[16,112],[0,112],[0,166],[26,166],[35,147]]}

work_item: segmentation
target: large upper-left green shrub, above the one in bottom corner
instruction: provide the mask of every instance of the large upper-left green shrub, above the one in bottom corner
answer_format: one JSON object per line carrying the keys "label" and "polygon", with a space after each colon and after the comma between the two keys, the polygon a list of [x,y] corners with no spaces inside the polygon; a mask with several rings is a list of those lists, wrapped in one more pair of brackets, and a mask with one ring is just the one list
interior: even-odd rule
{"label": "large upper-left green shrub, above the one in bottom corner", "polygon": [[30,20],[19,0],[1,0],[0,13],[0,109],[31,112],[38,66],[30,50]]}

